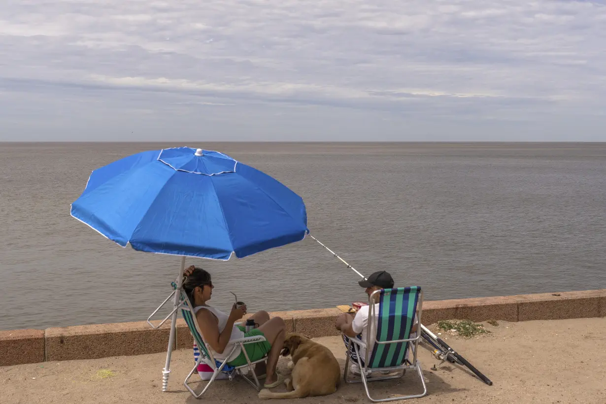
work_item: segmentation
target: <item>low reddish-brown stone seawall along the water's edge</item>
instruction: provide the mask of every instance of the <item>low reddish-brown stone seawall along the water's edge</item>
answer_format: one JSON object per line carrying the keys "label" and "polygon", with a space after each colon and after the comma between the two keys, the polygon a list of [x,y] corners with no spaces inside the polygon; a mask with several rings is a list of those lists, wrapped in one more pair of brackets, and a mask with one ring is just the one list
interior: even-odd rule
{"label": "low reddish-brown stone seawall along the water's edge", "polygon": [[[337,308],[279,311],[287,331],[310,337],[338,335]],[[606,289],[429,300],[424,302],[422,323],[459,319],[481,322],[504,320],[558,320],[606,317]],[[42,329],[0,331],[0,366],[44,361],[96,359],[165,351],[170,322],[151,329],[147,322],[78,325]],[[193,340],[182,319],[177,322],[176,349],[190,348]]]}

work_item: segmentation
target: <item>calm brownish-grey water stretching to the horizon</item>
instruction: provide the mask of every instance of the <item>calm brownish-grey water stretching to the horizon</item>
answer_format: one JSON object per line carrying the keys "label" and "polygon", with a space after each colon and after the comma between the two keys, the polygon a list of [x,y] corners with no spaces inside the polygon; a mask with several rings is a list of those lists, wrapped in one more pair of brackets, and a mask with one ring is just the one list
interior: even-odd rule
{"label": "calm brownish-grey water stretching to the horizon", "polygon": [[[70,217],[90,171],[182,144],[0,144],[0,329],[144,320],[179,258],[121,248]],[[305,200],[311,233],[357,270],[425,299],[606,287],[606,144],[187,144],[219,150]],[[311,239],[228,262],[212,302],[249,311],[364,298]]]}

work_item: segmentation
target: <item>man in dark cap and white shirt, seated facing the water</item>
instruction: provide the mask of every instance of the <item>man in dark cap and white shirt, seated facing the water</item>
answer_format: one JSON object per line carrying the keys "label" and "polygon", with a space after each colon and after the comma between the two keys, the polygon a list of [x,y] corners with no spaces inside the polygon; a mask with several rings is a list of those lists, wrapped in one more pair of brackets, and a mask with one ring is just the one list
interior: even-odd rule
{"label": "man in dark cap and white shirt, seated facing the water", "polygon": [[[371,274],[367,279],[361,280],[358,282],[362,288],[364,288],[366,294],[370,298],[370,295],[376,291],[381,289],[392,289],[394,282],[393,278],[387,271],[377,271]],[[379,303],[376,302],[375,305]],[[379,310],[379,307],[376,306],[375,310]],[[350,343],[350,338],[358,338],[364,342],[367,341],[367,332],[368,332],[368,317],[370,316],[370,306],[362,306],[356,316],[351,318],[347,313],[342,313],[339,317],[337,317],[335,326],[336,328],[343,333],[343,340],[345,342],[345,346],[349,346],[349,354],[353,363],[351,364],[351,373],[360,374],[360,369],[358,366],[358,357],[356,356],[356,351],[354,348],[354,344]],[[375,317],[375,325],[373,329],[377,328],[378,319]],[[413,319],[413,323],[415,320]],[[411,328],[410,338],[416,337],[416,324]],[[375,336],[371,336],[370,343],[368,348],[372,352],[372,349],[375,345]],[[362,362],[362,366],[364,365],[364,359],[366,357],[366,350],[359,347],[360,353],[360,362]],[[408,357],[408,353],[407,353]]]}

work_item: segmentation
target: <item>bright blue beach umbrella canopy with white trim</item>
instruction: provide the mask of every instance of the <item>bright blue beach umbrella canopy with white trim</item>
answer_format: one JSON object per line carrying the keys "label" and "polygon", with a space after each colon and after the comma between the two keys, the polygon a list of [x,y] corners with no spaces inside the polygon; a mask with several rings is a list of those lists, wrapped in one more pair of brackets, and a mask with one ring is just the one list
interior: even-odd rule
{"label": "bright blue beach umbrella canopy with white trim", "polygon": [[302,240],[300,196],[217,151],[133,154],[93,171],[71,214],[122,247],[228,260]]}

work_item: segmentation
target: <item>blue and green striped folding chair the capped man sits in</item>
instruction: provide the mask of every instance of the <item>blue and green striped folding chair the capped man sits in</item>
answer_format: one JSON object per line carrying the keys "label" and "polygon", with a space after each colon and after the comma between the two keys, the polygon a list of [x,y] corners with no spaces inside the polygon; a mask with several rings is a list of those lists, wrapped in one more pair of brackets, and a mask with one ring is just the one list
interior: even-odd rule
{"label": "blue and green striped folding chair the capped man sits in", "polygon": [[[374,304],[375,297],[379,294],[379,307]],[[410,288],[382,289],[373,292],[368,299],[370,305],[368,313],[368,333],[367,340],[362,341],[358,338],[350,338],[350,344],[353,343],[358,366],[361,369],[360,379],[348,379],[350,346],[347,347],[347,360],[345,361],[344,379],[347,383],[364,383],[366,395],[373,402],[384,402],[393,400],[416,399],[427,394],[427,387],[421,371],[421,363],[417,359],[419,339],[421,339],[421,310],[423,305],[423,293],[419,286]],[[417,336],[410,338],[410,330],[415,319],[417,325]],[[376,324],[376,329],[375,329]],[[370,345],[371,336],[375,336],[375,346],[369,353],[367,347]],[[366,350],[364,365],[360,357],[359,348]],[[406,359],[408,349],[413,348],[413,360]],[[353,360],[353,359],[352,359]],[[415,369],[421,383],[423,392],[411,396],[389,397],[387,399],[373,399],[368,391],[368,382],[375,380],[398,379],[406,373],[406,369]],[[397,373],[393,375],[393,373]],[[371,377],[370,374],[386,374],[390,376]]]}

